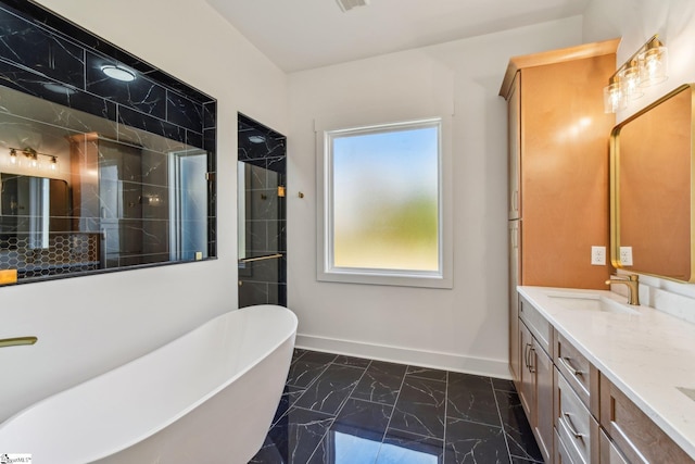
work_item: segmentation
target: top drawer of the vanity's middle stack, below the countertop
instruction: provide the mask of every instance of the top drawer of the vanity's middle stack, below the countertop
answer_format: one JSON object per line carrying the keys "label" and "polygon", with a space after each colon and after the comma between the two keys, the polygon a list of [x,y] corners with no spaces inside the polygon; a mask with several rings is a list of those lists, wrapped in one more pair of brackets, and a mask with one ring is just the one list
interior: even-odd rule
{"label": "top drawer of the vanity's middle stack, below the countertop", "polygon": [[[598,416],[598,371],[561,334],[555,333],[553,359],[559,373],[582,400],[582,403]],[[595,392],[592,404],[591,392]]]}

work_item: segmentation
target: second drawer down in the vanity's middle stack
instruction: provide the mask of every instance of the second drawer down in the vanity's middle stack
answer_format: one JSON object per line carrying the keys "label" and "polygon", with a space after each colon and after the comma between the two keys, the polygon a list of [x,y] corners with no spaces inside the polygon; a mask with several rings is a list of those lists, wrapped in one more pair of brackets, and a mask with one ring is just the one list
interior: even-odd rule
{"label": "second drawer down in the vanity's middle stack", "polygon": [[581,459],[584,463],[596,462],[592,460],[592,451],[597,455],[598,449],[592,450],[592,441],[597,437],[598,423],[557,368],[555,377],[557,434],[574,461]]}

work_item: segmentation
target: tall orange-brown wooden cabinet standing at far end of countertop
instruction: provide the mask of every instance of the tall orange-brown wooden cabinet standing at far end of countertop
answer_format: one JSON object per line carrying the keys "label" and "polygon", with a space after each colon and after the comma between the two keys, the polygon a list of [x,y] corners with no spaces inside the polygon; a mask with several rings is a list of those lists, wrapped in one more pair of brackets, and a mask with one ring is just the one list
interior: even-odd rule
{"label": "tall orange-brown wooden cabinet standing at far end of countertop", "polygon": [[606,288],[609,267],[589,256],[592,246],[609,242],[615,116],[604,112],[603,87],[618,43],[509,60],[500,95],[508,106],[508,220],[519,223],[519,285]]}

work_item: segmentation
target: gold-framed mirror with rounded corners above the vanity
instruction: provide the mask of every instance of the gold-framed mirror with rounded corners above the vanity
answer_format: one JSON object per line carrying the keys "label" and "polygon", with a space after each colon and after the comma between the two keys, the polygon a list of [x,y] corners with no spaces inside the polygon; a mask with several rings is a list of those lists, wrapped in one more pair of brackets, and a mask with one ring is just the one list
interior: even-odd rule
{"label": "gold-framed mirror with rounded corners above the vanity", "polygon": [[695,281],[693,98],[681,86],[611,133],[616,268]]}

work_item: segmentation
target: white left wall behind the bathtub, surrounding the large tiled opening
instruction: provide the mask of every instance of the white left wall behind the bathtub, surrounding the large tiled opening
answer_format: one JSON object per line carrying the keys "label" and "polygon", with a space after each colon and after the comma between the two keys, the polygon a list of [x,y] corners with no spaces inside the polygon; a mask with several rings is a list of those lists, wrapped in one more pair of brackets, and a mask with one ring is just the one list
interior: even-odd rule
{"label": "white left wall behind the bathtub, surrounding the large tiled opening", "polygon": [[204,0],[42,0],[218,102],[218,260],[0,289],[0,422],[237,308],[237,112],[288,129],[287,77]]}

